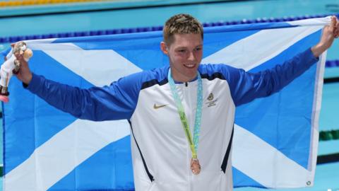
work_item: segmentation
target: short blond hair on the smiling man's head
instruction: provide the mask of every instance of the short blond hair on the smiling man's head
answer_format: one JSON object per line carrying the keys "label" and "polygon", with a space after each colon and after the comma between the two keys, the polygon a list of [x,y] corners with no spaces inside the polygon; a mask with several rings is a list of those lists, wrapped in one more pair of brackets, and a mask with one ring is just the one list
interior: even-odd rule
{"label": "short blond hair on the smiling man's head", "polygon": [[203,26],[189,14],[177,14],[169,18],[164,25],[164,42],[170,45],[175,34],[200,34],[203,39]]}

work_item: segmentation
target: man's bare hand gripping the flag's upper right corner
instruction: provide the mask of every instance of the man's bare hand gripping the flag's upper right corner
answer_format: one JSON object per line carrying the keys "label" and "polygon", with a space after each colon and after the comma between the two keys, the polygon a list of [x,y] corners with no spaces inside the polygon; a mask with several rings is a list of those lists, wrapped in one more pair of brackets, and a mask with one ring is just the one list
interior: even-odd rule
{"label": "man's bare hand gripping the flag's upper right corner", "polygon": [[329,47],[331,47],[334,38],[339,36],[339,21],[335,16],[331,17],[330,25],[326,25],[323,28],[323,33],[321,39],[317,45],[311,47],[311,51],[314,54],[314,57],[319,57],[320,54],[325,52]]}

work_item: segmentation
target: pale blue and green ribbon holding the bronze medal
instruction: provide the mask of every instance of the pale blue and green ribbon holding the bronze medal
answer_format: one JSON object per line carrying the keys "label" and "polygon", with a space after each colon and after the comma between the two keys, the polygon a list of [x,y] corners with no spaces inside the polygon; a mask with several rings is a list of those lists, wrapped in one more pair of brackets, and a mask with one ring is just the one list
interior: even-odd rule
{"label": "pale blue and green ribbon holding the bronze medal", "polygon": [[198,76],[198,90],[197,90],[197,100],[196,100],[196,119],[194,123],[194,138],[192,140],[191,130],[189,129],[189,123],[187,122],[186,114],[184,112],[184,107],[182,106],[182,100],[180,100],[177,87],[175,86],[174,80],[172,79],[171,69],[168,71],[168,82],[171,87],[172,96],[174,98],[175,104],[177,105],[177,110],[179,113],[180,120],[182,121],[182,127],[184,128],[184,132],[186,134],[187,141],[189,141],[189,145],[192,151],[192,158],[197,158],[196,152],[198,151],[198,141],[200,135],[201,128],[201,108],[203,108],[203,83],[201,80],[201,76],[197,71]]}

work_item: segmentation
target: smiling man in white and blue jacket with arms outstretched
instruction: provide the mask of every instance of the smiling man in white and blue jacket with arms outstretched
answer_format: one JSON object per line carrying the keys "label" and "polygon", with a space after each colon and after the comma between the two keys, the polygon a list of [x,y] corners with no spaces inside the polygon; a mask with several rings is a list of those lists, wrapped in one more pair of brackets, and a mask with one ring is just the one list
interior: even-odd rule
{"label": "smiling man in white and blue jacket with arms outstretched", "polygon": [[235,107],[270,96],[309,69],[338,37],[338,26],[333,17],[317,45],[251,74],[223,64],[200,65],[203,28],[179,14],[165,23],[160,44],[169,66],[103,88],[80,89],[32,74],[18,57],[18,79],[47,103],[81,119],[129,120],[136,190],[232,190]]}

